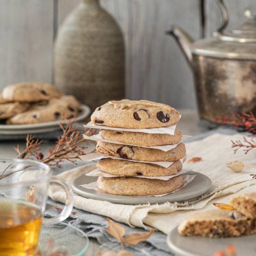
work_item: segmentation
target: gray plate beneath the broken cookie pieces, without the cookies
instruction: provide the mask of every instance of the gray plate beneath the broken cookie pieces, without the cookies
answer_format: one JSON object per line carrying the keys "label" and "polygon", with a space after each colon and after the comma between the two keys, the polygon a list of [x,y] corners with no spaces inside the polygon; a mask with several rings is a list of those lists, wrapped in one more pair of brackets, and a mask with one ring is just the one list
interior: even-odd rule
{"label": "gray plate beneath the broken cookie pieces, without the cookies", "polygon": [[234,245],[238,256],[256,255],[256,235],[234,238],[184,237],[174,228],[167,237],[167,244],[177,256],[213,256],[217,250],[225,251]]}

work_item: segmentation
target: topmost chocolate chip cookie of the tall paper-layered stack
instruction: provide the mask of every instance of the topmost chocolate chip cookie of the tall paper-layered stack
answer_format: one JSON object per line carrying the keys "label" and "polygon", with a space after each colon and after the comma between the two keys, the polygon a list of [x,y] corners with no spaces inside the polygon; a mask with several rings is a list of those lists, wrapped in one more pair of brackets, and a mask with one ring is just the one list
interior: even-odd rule
{"label": "topmost chocolate chip cookie of the tall paper-layered stack", "polygon": [[123,128],[154,128],[179,122],[179,112],[172,107],[147,100],[110,101],[91,115],[98,125]]}

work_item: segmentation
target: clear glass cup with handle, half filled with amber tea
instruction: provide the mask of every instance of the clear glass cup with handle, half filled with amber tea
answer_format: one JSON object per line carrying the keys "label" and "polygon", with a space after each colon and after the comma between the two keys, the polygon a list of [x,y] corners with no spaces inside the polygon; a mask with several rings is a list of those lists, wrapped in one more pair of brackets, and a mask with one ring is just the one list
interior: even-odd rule
{"label": "clear glass cup with handle, half filled with amber tea", "polygon": [[[70,215],[71,190],[51,174],[48,165],[37,161],[0,159],[0,256],[34,255],[41,225],[56,224]],[[62,186],[67,200],[60,215],[44,219],[50,183]]]}

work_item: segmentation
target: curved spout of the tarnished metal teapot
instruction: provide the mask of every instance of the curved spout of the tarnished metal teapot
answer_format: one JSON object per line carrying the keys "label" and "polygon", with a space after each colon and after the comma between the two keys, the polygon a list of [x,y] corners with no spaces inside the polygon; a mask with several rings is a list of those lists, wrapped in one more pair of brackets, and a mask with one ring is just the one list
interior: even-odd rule
{"label": "curved spout of the tarnished metal teapot", "polygon": [[181,28],[176,26],[172,26],[171,29],[166,32],[166,34],[175,38],[179,44],[179,47],[182,49],[182,53],[185,55],[189,66],[192,67],[192,53],[190,46],[194,42],[194,39],[192,39],[192,37]]}

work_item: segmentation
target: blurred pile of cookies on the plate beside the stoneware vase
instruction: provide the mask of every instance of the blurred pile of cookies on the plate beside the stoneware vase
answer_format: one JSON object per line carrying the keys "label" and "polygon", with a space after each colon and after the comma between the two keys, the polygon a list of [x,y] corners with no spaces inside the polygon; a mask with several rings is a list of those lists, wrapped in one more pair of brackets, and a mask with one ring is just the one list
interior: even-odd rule
{"label": "blurred pile of cookies on the plate beside the stoneware vase", "polygon": [[42,82],[11,84],[0,93],[0,119],[7,124],[31,124],[77,116],[80,103]]}

